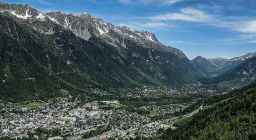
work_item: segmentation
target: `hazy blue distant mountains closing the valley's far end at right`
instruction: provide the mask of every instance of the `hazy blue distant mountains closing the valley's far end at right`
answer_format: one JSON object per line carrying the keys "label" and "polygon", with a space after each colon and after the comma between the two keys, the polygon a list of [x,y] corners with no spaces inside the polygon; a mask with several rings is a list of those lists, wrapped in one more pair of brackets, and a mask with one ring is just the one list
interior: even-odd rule
{"label": "hazy blue distant mountains closing the valley's far end at right", "polygon": [[256,77],[256,53],[247,53],[232,59],[211,58],[201,56],[191,61],[205,76],[198,78],[203,84],[225,84],[226,86],[242,86]]}

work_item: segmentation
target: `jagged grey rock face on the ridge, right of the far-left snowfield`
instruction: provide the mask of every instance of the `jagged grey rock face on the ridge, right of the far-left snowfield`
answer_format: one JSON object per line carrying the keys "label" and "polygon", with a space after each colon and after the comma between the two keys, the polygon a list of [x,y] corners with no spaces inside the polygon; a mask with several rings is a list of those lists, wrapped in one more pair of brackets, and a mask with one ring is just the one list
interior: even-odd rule
{"label": "jagged grey rock face on the ridge, right of the far-left snowfield", "polygon": [[128,27],[114,26],[111,23],[106,24],[102,19],[93,18],[88,13],[72,15],[54,12],[47,13],[46,16],[87,41],[92,36],[96,36],[117,48],[125,49],[127,49],[128,41],[160,44],[153,33],[133,31]]}

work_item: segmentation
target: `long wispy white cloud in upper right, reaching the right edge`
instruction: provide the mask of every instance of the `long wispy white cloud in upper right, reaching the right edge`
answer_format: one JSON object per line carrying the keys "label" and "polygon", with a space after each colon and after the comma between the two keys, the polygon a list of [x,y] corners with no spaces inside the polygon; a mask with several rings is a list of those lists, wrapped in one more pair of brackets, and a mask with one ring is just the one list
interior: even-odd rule
{"label": "long wispy white cloud in upper right, reaching the right edge", "polygon": [[183,8],[178,13],[156,15],[151,19],[155,21],[204,22],[214,27],[229,28],[237,32],[256,33],[255,19],[214,15],[190,7]]}

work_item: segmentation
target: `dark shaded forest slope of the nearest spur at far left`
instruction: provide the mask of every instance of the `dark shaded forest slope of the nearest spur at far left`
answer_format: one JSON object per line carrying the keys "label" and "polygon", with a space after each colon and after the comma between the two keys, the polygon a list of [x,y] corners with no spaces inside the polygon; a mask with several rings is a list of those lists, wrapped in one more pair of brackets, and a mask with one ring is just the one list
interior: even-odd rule
{"label": "dark shaded forest slope of the nearest spur at far left", "polygon": [[[76,90],[73,85],[51,73],[48,66],[50,63],[46,59],[47,54],[33,38],[28,37],[25,41],[30,42],[30,45],[28,43],[22,44],[14,39],[22,36],[19,37],[19,40],[23,42],[23,37],[28,35],[19,24],[1,15],[0,21],[2,21],[0,28],[1,98],[9,99],[15,97],[16,100],[43,99],[59,96],[59,90],[63,87],[69,91]],[[9,30],[10,27],[14,30]],[[19,31],[22,34],[19,34]],[[11,32],[16,32],[16,34],[11,34]],[[54,55],[52,56],[54,57]],[[36,57],[41,57],[40,61]],[[57,60],[54,62],[58,63]],[[52,65],[54,64],[52,63]],[[61,69],[60,65],[61,63],[58,63],[58,69]],[[64,69],[71,70],[69,67]]]}

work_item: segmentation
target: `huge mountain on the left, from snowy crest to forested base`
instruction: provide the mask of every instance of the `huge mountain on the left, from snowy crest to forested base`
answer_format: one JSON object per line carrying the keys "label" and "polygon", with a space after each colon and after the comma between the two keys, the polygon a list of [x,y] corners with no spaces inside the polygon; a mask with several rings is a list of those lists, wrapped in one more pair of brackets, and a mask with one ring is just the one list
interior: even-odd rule
{"label": "huge mountain on the left, from snowy crest to forested base", "polygon": [[43,14],[0,3],[3,98],[50,98],[60,89],[191,84],[205,76],[153,33],[105,23],[90,14]]}

